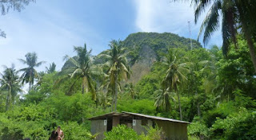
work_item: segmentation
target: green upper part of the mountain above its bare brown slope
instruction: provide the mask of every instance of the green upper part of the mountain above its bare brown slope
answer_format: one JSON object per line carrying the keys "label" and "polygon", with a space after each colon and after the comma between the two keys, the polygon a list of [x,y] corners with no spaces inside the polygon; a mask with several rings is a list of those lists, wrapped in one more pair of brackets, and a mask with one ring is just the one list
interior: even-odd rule
{"label": "green upper part of the mountain above its bare brown slope", "polygon": [[[149,59],[159,60],[162,52],[170,48],[190,49],[190,39],[179,37],[173,33],[132,33],[122,41],[130,54],[130,64],[138,60]],[[198,41],[192,41],[193,47],[198,49],[202,45]]]}

